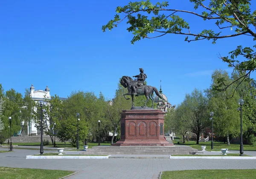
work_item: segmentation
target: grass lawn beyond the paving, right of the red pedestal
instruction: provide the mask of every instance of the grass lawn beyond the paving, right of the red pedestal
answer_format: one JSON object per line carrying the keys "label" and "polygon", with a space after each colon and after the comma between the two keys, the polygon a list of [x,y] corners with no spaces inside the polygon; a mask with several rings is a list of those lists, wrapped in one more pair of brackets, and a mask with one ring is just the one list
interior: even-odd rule
{"label": "grass lawn beyond the paving, right of the red pedestal", "polygon": [[[199,142],[199,144],[196,144],[196,141],[186,141],[185,144],[180,143],[177,144],[177,141],[173,141],[175,145],[187,145],[197,150],[202,150],[201,145],[205,145],[207,151],[220,151],[223,148],[228,148],[228,150],[240,150],[240,144],[230,144],[227,145],[223,142],[215,142],[213,141],[213,150],[211,150],[211,141],[207,142]],[[250,151],[256,151],[256,146],[244,144],[244,150],[250,150]]]}

